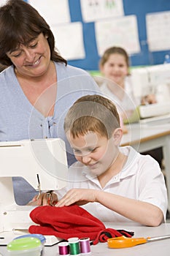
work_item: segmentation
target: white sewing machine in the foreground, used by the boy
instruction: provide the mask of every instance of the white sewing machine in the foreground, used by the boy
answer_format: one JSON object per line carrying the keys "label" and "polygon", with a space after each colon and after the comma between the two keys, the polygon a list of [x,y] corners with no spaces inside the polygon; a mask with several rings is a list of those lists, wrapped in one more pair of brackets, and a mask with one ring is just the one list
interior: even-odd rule
{"label": "white sewing machine in the foreground, used by the boy", "polygon": [[[29,217],[34,206],[15,203],[12,177],[23,177],[34,189],[40,184],[47,191],[66,187],[67,172],[66,148],[61,139],[0,143],[0,245],[28,233],[28,227],[35,225]],[[55,236],[46,239],[46,245],[60,241]]]}

